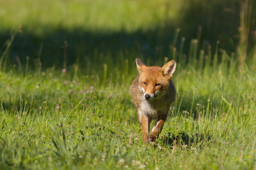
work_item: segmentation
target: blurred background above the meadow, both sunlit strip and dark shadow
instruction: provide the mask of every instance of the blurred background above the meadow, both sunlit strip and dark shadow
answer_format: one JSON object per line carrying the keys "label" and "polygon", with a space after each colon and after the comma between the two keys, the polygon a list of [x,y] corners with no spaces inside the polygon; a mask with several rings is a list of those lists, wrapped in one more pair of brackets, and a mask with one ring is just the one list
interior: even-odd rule
{"label": "blurred background above the meadow, both sunlit strip and dark shadow", "polygon": [[[0,0],[0,55],[13,30],[16,34],[7,65],[22,65],[29,56],[30,67],[40,58],[43,68],[63,68],[64,41],[67,65],[88,66],[137,57],[171,59],[177,47],[188,63],[191,39],[197,52],[215,51],[216,42],[227,54],[239,43],[240,0]],[[251,7],[248,51],[254,46],[256,3]],[[248,7],[249,9],[249,7]],[[248,10],[250,11],[250,9]],[[181,38],[185,37],[183,51]],[[184,40],[184,39],[183,39]],[[210,48],[211,47],[211,48]],[[179,61],[180,60],[180,61]]]}

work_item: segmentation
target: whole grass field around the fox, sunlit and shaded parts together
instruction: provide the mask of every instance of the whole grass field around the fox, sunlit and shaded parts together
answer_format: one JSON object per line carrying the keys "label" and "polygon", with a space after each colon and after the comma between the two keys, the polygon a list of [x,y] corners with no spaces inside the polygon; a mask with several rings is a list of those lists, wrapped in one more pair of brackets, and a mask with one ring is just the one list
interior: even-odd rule
{"label": "whole grass field around the fox, sunlit and shaded parts together", "polygon": [[[247,18],[229,53],[201,32],[187,45],[179,29],[162,29],[183,7],[170,1],[166,16],[157,10],[166,3],[0,1],[0,40],[10,39],[0,50],[0,169],[255,170],[256,46],[248,44]],[[136,58],[149,66],[178,61],[177,99],[156,145],[142,144],[129,96]]]}

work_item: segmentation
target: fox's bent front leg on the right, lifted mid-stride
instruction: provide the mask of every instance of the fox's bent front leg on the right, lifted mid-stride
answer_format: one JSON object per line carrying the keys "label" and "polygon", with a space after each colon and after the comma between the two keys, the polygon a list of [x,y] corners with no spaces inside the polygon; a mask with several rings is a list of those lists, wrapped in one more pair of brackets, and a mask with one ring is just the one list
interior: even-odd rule
{"label": "fox's bent front leg on the right, lifted mid-stride", "polygon": [[152,132],[150,134],[150,137],[152,139],[152,142],[156,141],[156,138],[159,136],[159,134],[161,133],[163,126],[164,126],[164,122],[167,118],[167,114],[166,115],[159,115],[157,120],[156,120],[156,124],[152,129]]}

